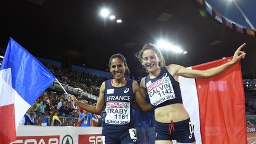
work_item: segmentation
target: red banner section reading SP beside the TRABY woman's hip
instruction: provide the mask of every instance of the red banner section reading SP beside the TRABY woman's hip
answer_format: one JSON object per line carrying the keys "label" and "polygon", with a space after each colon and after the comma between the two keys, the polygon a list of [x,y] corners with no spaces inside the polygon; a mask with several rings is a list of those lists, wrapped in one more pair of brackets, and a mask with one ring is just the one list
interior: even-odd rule
{"label": "red banner section reading SP beside the TRABY woman's hip", "polygon": [[78,143],[102,144],[104,139],[101,134],[79,135]]}

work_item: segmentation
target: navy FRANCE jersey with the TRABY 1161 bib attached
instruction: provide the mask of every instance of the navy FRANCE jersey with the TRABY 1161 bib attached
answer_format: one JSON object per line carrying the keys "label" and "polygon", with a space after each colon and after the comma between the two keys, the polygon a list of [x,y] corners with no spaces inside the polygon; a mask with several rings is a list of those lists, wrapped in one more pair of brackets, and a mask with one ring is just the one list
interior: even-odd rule
{"label": "navy FRANCE jersey with the TRABY 1161 bib attached", "polygon": [[135,123],[132,114],[132,104],[135,100],[133,94],[133,80],[127,79],[123,87],[113,87],[113,79],[105,81],[105,123],[104,126],[127,126]]}

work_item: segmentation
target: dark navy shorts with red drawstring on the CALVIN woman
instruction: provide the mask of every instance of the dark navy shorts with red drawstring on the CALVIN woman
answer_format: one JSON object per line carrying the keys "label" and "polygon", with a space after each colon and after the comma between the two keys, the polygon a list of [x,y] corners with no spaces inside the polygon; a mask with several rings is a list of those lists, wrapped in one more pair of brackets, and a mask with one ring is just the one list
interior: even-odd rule
{"label": "dark navy shorts with red drawstring on the CALVIN woman", "polygon": [[177,140],[180,143],[196,142],[194,124],[190,122],[190,119],[176,123],[155,121],[155,140]]}

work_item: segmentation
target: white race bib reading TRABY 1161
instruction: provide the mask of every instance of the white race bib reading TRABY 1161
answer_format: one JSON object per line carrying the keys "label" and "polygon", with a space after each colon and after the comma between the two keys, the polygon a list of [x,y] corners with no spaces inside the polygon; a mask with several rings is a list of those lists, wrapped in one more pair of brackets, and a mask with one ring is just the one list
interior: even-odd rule
{"label": "white race bib reading TRABY 1161", "polygon": [[108,101],[105,111],[105,123],[128,124],[130,123],[130,103],[120,101]]}

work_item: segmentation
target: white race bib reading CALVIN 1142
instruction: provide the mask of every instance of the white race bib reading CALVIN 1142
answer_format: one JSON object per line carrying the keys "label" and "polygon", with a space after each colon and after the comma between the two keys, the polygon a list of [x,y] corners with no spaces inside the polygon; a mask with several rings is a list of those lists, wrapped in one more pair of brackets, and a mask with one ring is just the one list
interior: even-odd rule
{"label": "white race bib reading CALVIN 1142", "polygon": [[155,106],[175,98],[169,76],[164,76],[162,79],[147,85],[147,89],[151,104]]}

